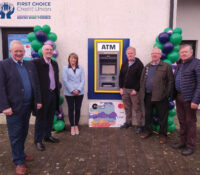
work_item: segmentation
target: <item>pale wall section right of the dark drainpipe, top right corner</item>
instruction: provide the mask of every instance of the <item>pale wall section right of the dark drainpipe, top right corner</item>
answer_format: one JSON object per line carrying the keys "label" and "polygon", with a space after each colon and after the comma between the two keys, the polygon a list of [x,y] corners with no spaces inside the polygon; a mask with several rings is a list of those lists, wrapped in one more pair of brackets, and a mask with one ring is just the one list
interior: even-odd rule
{"label": "pale wall section right of the dark drainpipe, top right corner", "polygon": [[197,40],[196,55],[200,58],[200,1],[178,0],[177,27],[183,30],[183,40]]}

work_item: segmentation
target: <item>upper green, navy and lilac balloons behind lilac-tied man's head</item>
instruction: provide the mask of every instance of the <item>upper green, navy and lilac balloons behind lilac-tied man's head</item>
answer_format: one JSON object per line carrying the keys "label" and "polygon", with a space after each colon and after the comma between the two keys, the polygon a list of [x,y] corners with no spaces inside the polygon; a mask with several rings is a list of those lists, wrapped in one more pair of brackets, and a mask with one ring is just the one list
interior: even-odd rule
{"label": "upper green, navy and lilac balloons behind lilac-tied man's head", "polygon": [[53,47],[53,57],[52,60],[56,60],[58,57],[58,51],[56,50],[56,44],[54,43],[57,40],[57,35],[51,32],[51,28],[49,25],[43,25],[42,27],[36,25],[34,27],[34,32],[30,32],[27,35],[29,42],[31,43],[31,47],[33,51],[31,52],[31,56],[33,59],[42,57],[42,46],[44,44],[51,45]]}

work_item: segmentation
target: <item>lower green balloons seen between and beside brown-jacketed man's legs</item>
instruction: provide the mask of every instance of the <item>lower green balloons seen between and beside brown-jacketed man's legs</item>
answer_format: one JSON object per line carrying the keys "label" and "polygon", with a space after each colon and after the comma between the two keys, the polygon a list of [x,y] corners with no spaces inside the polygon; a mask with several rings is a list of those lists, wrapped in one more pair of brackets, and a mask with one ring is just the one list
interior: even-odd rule
{"label": "lower green balloons seen between and beside brown-jacketed man's legs", "polygon": [[[176,115],[176,109],[174,108],[174,102],[170,99],[169,100],[169,114],[168,114],[168,132],[172,132],[176,129],[173,117]],[[156,108],[153,108],[153,131],[159,132],[160,125],[159,125],[159,118],[157,116]]]}

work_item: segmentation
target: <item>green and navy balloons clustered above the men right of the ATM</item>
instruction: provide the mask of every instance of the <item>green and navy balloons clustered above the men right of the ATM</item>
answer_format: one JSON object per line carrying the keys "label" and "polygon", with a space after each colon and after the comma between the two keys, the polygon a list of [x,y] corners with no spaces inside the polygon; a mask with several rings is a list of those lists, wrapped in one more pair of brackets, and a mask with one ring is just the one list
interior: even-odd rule
{"label": "green and navy balloons clustered above the men right of the ATM", "polygon": [[175,28],[166,28],[164,32],[160,33],[156,37],[156,43],[153,47],[158,47],[162,50],[161,59],[172,65],[179,59],[179,49],[180,43],[182,41],[182,29]]}

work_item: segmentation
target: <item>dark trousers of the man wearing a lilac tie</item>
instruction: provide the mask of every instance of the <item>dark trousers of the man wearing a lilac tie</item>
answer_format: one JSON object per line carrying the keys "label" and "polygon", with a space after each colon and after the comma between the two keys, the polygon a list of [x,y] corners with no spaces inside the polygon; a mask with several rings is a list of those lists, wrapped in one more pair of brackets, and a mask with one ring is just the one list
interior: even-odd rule
{"label": "dark trousers of the man wearing a lilac tie", "polygon": [[47,110],[43,115],[37,115],[35,120],[35,143],[41,143],[44,138],[51,136],[51,130],[53,126],[53,119],[56,112],[56,93],[47,92]]}

